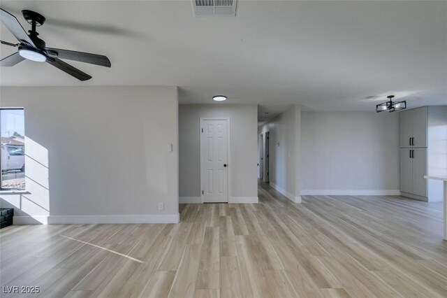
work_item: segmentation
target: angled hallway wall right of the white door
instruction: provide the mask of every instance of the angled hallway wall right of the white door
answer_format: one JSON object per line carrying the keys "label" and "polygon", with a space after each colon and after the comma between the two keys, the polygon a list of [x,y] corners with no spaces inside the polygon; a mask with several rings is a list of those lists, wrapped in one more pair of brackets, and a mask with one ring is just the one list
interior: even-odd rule
{"label": "angled hallway wall right of the white door", "polygon": [[270,132],[270,185],[300,201],[300,106],[291,106],[258,129]]}

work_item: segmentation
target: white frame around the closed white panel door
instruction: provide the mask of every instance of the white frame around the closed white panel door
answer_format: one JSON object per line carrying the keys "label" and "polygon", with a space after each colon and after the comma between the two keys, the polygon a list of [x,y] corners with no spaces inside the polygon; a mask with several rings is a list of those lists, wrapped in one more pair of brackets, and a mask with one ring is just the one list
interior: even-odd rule
{"label": "white frame around the closed white panel door", "polygon": [[228,198],[227,201],[228,203],[230,202],[230,194],[231,194],[231,180],[230,180],[230,170],[231,170],[231,166],[233,165],[233,163],[231,162],[231,151],[230,151],[230,118],[229,117],[200,117],[200,121],[199,121],[199,127],[198,127],[198,133],[200,135],[199,137],[199,148],[200,148],[200,203],[203,204],[203,193],[202,190],[204,190],[205,188],[203,187],[203,185],[205,184],[205,173],[203,172],[203,152],[205,152],[203,146],[203,134],[202,134],[202,129],[203,129],[203,121],[205,120],[226,120],[226,139],[227,139],[227,168],[228,170],[226,171],[226,180],[227,180],[227,184],[228,184]]}

